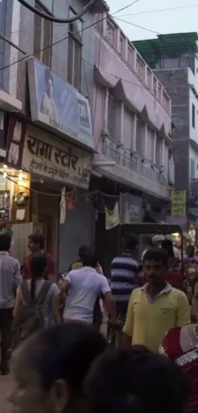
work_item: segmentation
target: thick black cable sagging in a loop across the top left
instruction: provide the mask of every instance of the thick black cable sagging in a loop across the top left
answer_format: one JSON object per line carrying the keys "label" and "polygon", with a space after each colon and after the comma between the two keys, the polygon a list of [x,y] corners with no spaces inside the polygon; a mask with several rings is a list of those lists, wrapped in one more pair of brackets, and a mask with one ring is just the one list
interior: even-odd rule
{"label": "thick black cable sagging in a loop across the top left", "polygon": [[32,13],[36,14],[37,16],[42,17],[45,20],[48,20],[50,22],[53,23],[74,23],[76,22],[78,19],[80,19],[82,16],[84,16],[84,14],[86,13],[86,11],[91,7],[94,6],[94,4],[96,3],[97,0],[90,0],[88,2],[88,4],[86,4],[86,6],[83,8],[83,10],[81,10],[78,14],[76,14],[76,16],[71,17],[70,19],[59,19],[57,17],[51,16],[50,14],[47,14],[43,11],[40,11],[39,9],[36,9],[35,7],[31,6],[29,3],[27,3],[27,1],[25,0],[18,0],[19,3],[21,3],[23,6],[25,6],[28,10],[30,10]]}

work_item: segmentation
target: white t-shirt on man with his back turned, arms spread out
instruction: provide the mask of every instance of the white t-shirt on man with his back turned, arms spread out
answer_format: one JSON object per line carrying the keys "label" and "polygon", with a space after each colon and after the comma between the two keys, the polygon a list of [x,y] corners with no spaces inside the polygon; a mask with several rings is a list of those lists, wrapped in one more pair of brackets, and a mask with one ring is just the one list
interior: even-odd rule
{"label": "white t-shirt on man with his back turned, arms spread out", "polygon": [[106,277],[92,267],[83,267],[70,271],[65,279],[70,288],[63,317],[91,324],[97,295],[111,291]]}

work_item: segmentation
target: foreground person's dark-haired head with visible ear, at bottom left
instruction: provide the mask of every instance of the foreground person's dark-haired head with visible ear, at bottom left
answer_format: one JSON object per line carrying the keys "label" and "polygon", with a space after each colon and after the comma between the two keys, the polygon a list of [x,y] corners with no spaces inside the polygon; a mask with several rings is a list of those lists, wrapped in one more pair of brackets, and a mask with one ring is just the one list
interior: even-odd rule
{"label": "foreground person's dark-haired head with visible ear, at bottom left", "polygon": [[83,413],[83,380],[106,348],[93,327],[69,322],[31,336],[11,358],[15,388],[9,402],[20,413]]}

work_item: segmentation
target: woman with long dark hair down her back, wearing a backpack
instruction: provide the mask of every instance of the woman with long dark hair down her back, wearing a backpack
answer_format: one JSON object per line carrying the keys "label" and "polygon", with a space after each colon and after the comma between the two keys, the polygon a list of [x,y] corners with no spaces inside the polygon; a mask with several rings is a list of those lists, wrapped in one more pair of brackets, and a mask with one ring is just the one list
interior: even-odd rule
{"label": "woman with long dark hair down her back, wearing a backpack", "polygon": [[[23,281],[17,289],[13,316],[16,317],[21,305],[27,304],[25,293],[28,290],[31,303],[43,291],[43,301],[41,304],[41,314],[44,326],[48,327],[52,323],[61,322],[59,312],[60,290],[57,284],[46,281],[47,261],[44,254],[33,254],[31,260],[31,279]],[[24,291],[25,290],[25,291]]]}

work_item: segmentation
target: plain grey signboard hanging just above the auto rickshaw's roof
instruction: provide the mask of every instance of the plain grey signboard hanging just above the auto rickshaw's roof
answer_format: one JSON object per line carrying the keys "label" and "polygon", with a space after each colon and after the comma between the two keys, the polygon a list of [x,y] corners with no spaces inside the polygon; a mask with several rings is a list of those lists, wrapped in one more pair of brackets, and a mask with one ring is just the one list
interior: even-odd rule
{"label": "plain grey signboard hanging just above the auto rickshaw's roof", "polygon": [[131,193],[120,194],[120,223],[142,222],[142,199]]}

